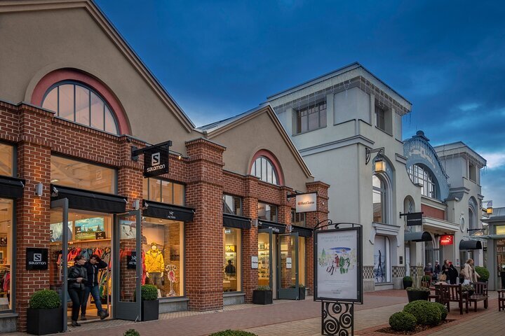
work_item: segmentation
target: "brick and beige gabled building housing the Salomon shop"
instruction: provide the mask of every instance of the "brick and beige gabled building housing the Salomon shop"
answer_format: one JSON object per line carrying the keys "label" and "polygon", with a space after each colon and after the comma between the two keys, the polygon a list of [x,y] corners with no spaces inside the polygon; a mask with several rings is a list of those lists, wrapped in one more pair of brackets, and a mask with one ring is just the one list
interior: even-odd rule
{"label": "brick and beige gabled building housing the Salomon shop", "polygon": [[[4,1],[0,20],[1,331],[26,330],[36,290],[63,297],[78,254],[109,263],[100,296],[114,318],[139,316],[141,283],[161,312],[313,288],[328,185],[269,106],[195,128],[93,1]],[[132,150],[168,140],[168,174],[144,178]],[[311,192],[317,210],[297,214],[288,195]],[[29,269],[31,248],[47,269]]]}

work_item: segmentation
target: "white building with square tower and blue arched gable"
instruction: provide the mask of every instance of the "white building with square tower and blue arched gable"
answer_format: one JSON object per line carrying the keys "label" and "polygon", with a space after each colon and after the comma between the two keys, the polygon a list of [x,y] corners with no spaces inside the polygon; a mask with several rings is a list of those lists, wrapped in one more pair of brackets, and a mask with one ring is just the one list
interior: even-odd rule
{"label": "white building with square tower and blue arched gable", "polygon": [[[267,104],[312,174],[330,184],[329,218],[363,225],[365,291],[400,288],[409,265],[462,260],[457,243],[440,248],[439,240],[453,235],[457,242],[466,223],[480,225],[480,155],[462,143],[433,148],[422,132],[404,142],[402,116],[412,104],[358,63],[274,94]],[[382,172],[375,172],[378,157]],[[407,227],[399,216],[420,211],[422,226]]]}

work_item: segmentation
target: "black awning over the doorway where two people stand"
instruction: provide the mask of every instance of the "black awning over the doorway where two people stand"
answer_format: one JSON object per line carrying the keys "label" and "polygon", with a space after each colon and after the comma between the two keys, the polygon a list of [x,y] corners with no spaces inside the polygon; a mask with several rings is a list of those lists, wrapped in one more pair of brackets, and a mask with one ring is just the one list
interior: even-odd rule
{"label": "black awning over the doorway where two people stand", "polygon": [[69,209],[122,214],[126,212],[128,197],[97,193],[88,190],[51,185],[51,200],[69,200]]}

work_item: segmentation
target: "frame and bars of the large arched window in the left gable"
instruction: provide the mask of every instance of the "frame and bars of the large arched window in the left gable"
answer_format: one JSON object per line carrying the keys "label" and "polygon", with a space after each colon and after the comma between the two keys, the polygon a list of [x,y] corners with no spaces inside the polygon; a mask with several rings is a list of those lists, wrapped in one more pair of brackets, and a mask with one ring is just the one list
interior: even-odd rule
{"label": "frame and bars of the large arched window in the left gable", "polygon": [[[69,120],[67,118],[63,118],[63,117],[60,117],[60,86],[62,85],[73,85],[73,91],[74,91],[74,113],[73,113],[73,116],[74,116],[74,120]],[[76,86],[80,86],[80,87],[83,87],[83,89],[85,90],[89,90],[89,94],[88,94],[88,118],[89,118],[89,125],[86,125],[86,124],[83,124],[83,123],[78,123],[76,121]],[[43,94],[43,97],[42,97],[42,101],[41,101],[41,106],[43,107],[43,104],[44,102],[46,101],[46,97],[50,94],[50,92],[52,92],[54,89],[57,90],[56,92],[56,110],[57,111],[53,111],[55,112],[55,115],[58,117],[58,118],[61,118],[62,120],[67,120],[67,121],[70,121],[72,123],[76,123],[77,125],[83,125],[83,126],[86,126],[86,127],[90,127],[92,128],[93,130],[99,130],[101,132],[106,132],[106,133],[109,133],[109,134],[114,134],[114,135],[119,135],[120,134],[120,131],[119,131],[119,121],[117,120],[117,116],[116,116],[116,112],[114,111],[114,109],[112,109],[112,107],[110,106],[110,104],[107,102],[107,100],[102,96],[102,94],[100,94],[100,92],[98,92],[97,90],[93,89],[93,87],[90,87],[89,85],[87,85],[86,83],[82,83],[82,82],[79,82],[78,80],[60,80],[59,82],[57,83],[54,83],[53,85],[51,85],[48,90],[46,90],[46,92]],[[100,129],[100,128],[97,128],[97,127],[93,127],[91,126],[92,123],[91,123],[91,93],[95,94],[98,98],[101,99],[102,103],[103,103],[103,130]],[[43,109],[45,109],[43,107]],[[112,116],[112,120],[114,121],[114,127],[116,128],[116,132],[115,133],[112,133],[112,132],[108,132],[106,131],[106,127],[105,127],[105,124],[106,124],[106,111],[107,109],[109,110],[109,113],[111,114]],[[52,110],[50,110],[52,111]]]}

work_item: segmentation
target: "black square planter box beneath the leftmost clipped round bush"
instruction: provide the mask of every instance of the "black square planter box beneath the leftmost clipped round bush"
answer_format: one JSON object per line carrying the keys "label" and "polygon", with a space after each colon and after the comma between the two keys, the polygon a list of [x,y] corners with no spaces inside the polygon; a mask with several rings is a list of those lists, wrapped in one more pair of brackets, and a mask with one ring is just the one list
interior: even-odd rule
{"label": "black square planter box beneath the leftmost clipped round bush", "polygon": [[63,331],[63,309],[27,309],[27,332],[47,335]]}

